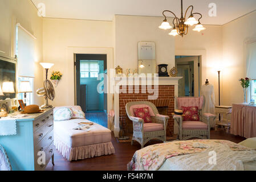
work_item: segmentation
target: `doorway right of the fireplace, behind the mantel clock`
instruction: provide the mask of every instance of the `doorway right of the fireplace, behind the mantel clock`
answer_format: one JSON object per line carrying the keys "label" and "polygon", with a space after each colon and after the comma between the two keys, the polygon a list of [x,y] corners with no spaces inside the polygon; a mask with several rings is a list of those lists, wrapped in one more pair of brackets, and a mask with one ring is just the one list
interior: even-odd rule
{"label": "doorway right of the fireplace, behind the mantel clock", "polygon": [[200,96],[200,73],[202,56],[175,56],[178,70],[178,97]]}

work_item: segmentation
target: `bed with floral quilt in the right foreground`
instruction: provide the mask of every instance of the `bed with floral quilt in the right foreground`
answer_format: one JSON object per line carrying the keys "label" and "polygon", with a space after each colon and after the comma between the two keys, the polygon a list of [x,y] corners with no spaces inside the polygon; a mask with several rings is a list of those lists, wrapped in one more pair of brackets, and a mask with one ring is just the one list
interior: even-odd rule
{"label": "bed with floral quilt in the right foreground", "polygon": [[131,171],[256,171],[256,150],[228,140],[185,140],[138,150]]}

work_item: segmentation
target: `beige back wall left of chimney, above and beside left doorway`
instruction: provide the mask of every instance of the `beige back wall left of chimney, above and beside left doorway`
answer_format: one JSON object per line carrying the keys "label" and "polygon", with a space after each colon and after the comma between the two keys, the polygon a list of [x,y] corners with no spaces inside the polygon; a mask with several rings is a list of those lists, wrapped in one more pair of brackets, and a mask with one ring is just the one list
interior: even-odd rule
{"label": "beige back wall left of chimney, above and beside left doorway", "polygon": [[[113,47],[113,22],[71,19],[43,19],[43,60],[54,63],[51,71],[63,73],[62,80],[55,88],[54,106],[74,105],[74,59],[68,59],[70,49]],[[75,53],[75,52],[74,52]],[[91,53],[91,52],[90,52]],[[72,88],[72,89],[70,89]]]}

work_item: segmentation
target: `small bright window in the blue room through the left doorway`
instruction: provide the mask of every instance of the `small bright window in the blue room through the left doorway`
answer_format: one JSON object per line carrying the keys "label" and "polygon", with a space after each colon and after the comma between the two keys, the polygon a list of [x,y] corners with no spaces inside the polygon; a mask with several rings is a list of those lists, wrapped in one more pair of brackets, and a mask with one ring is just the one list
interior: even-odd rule
{"label": "small bright window in the blue room through the left doorway", "polygon": [[98,61],[80,61],[81,78],[97,78],[99,76]]}

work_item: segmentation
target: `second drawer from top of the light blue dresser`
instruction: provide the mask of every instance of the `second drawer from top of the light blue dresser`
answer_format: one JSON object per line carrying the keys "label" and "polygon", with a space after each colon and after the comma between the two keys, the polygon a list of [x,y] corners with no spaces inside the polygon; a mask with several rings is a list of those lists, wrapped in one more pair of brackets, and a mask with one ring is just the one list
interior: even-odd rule
{"label": "second drawer from top of the light blue dresser", "polygon": [[53,129],[54,121],[49,119],[40,129],[34,132],[34,146],[36,146]]}

